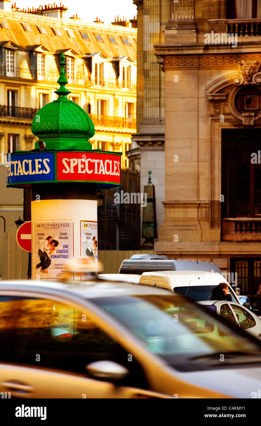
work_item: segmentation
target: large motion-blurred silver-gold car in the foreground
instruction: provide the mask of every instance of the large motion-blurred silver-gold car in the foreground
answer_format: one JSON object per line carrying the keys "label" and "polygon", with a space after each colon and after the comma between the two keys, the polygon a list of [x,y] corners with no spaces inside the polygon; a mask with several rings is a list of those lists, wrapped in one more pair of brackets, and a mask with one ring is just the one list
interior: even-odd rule
{"label": "large motion-blurred silver-gold car in the foreground", "polygon": [[260,388],[260,342],[145,285],[0,281],[0,341],[0,392],[11,398],[251,398]]}

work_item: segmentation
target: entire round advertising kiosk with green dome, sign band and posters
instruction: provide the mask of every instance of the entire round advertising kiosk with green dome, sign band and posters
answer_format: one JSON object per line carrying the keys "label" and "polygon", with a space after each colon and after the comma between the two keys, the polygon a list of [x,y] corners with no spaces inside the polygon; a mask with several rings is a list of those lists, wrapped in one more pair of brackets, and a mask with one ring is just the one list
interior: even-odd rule
{"label": "entire round advertising kiosk with green dome, sign band and posters", "polygon": [[93,122],[67,98],[60,59],[58,98],[32,121],[35,150],[7,158],[7,187],[31,188],[32,279],[87,279],[67,264],[73,257],[97,264],[97,188],[121,185],[122,154],[92,149]]}

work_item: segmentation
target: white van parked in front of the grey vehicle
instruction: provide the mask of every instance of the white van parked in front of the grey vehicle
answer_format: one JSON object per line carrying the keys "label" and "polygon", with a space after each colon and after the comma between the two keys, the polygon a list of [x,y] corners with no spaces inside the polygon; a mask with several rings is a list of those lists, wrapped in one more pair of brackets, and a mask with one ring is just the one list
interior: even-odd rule
{"label": "white van parked in front of the grey vehicle", "polygon": [[195,301],[210,300],[212,290],[220,282],[226,282],[232,296],[232,302],[240,303],[235,291],[220,273],[206,271],[158,271],[143,272],[139,284],[166,288]]}

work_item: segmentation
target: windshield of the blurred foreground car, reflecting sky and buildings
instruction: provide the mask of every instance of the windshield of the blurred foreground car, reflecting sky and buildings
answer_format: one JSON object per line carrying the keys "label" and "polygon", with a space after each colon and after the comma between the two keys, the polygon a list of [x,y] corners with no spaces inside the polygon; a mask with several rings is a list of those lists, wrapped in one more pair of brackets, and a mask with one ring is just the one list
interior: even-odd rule
{"label": "windshield of the blurred foreground car, reflecting sky and buildings", "polygon": [[[217,367],[224,366],[232,356],[240,355],[241,363],[250,357],[261,362],[258,343],[252,343],[200,305],[180,296],[146,294],[101,297],[92,301],[130,329],[149,351],[180,370],[188,366],[191,370],[197,369],[200,357],[207,357],[200,369],[207,368],[210,360],[213,364],[212,355],[217,358]],[[225,362],[220,363],[220,354],[225,355]]]}

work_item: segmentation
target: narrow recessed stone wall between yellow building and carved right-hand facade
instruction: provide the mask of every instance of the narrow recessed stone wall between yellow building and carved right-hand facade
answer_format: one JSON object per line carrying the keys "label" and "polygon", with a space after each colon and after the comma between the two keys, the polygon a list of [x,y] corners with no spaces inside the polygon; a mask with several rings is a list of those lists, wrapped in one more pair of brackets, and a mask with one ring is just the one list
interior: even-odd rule
{"label": "narrow recessed stone wall between yellow building and carved right-hand facade", "polygon": [[[157,227],[164,219],[165,191],[165,77],[155,56],[154,45],[163,43],[169,18],[169,0],[133,0],[137,6],[137,133],[132,137],[128,158],[140,170],[140,191],[155,185]],[[142,212],[141,212],[142,213]],[[141,243],[145,240],[142,239]],[[157,241],[157,239],[156,239]]]}

